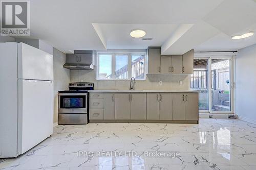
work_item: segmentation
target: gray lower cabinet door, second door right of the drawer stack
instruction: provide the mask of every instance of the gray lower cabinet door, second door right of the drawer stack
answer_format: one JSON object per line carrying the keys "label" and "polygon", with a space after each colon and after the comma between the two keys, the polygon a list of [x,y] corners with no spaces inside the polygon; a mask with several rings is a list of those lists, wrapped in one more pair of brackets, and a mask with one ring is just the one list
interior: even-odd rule
{"label": "gray lower cabinet door, second door right of the drawer stack", "polygon": [[130,93],[115,93],[115,119],[131,119]]}

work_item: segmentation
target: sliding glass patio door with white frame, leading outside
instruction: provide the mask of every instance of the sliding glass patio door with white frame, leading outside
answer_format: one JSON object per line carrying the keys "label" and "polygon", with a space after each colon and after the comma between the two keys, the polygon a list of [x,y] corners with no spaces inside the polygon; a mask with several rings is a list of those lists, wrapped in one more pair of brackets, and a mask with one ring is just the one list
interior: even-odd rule
{"label": "sliding glass patio door with white frame, leading outside", "polygon": [[199,111],[232,113],[232,58],[194,59],[190,89],[199,91]]}

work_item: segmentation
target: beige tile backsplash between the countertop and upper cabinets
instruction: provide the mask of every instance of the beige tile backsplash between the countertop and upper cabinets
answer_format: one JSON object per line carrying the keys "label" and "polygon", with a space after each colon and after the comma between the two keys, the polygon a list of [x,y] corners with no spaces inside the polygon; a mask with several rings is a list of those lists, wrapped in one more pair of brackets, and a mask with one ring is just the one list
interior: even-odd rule
{"label": "beige tile backsplash between the countertop and upper cabinets", "polygon": [[[96,80],[96,68],[94,70],[71,70],[71,82],[92,82],[94,89],[118,89],[127,90],[130,80]],[[136,90],[188,90],[188,75],[147,75],[146,80],[136,80]],[[159,85],[162,81],[162,85]],[[182,85],[180,85],[182,81]]]}

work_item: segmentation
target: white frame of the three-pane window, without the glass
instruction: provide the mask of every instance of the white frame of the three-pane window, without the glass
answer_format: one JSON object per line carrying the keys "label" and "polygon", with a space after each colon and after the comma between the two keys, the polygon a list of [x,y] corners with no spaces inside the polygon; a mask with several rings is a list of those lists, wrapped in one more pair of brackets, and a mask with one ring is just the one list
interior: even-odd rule
{"label": "white frame of the three-pane window, without the glass", "polygon": [[[111,63],[111,79],[100,79],[99,78],[99,56],[100,55],[111,55],[112,56],[112,63]],[[115,69],[116,69],[116,56],[127,56],[127,79],[116,79],[116,75],[115,75]],[[130,80],[132,78],[132,56],[133,55],[138,55],[138,56],[144,56],[144,78],[143,79],[136,79],[137,80],[146,80],[146,52],[140,52],[140,51],[134,51],[134,52],[130,52],[130,51],[125,51],[125,52],[96,52],[96,80]]]}

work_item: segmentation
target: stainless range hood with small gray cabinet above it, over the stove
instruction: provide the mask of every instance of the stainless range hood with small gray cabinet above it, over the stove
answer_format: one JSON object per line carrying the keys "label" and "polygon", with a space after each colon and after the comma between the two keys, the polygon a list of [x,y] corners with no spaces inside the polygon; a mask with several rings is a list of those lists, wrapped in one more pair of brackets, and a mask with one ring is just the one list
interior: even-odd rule
{"label": "stainless range hood with small gray cabinet above it, over the stove", "polygon": [[75,50],[74,54],[66,54],[64,68],[68,69],[94,69],[94,52]]}

